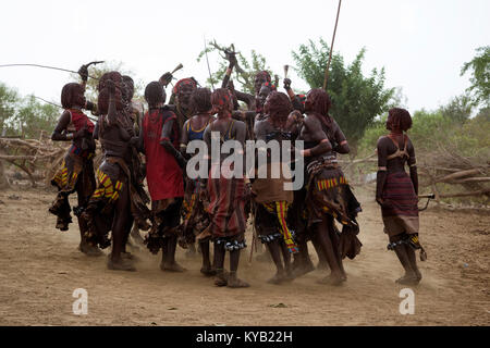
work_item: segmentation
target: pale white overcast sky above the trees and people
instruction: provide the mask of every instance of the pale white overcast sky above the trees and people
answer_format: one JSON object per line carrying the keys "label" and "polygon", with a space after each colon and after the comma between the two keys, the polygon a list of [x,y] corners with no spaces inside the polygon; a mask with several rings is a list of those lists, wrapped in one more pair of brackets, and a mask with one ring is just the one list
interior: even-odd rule
{"label": "pale white overcast sky above the trees and people", "polygon": [[[204,37],[252,49],[282,73],[308,39],[331,41],[338,0],[303,1],[2,1],[0,64],[36,63],[78,70],[91,60],[122,61],[145,84],[183,63],[176,77],[204,83],[196,58]],[[367,49],[364,69],[385,69],[411,112],[436,109],[468,87],[464,62],[490,45],[488,0],[344,0],[334,51],[346,62]],[[211,70],[218,55],[210,55]],[[22,95],[58,101],[70,74],[0,69],[0,82]],[[293,88],[307,89],[292,75]],[[282,86],[282,83],[280,83]]]}

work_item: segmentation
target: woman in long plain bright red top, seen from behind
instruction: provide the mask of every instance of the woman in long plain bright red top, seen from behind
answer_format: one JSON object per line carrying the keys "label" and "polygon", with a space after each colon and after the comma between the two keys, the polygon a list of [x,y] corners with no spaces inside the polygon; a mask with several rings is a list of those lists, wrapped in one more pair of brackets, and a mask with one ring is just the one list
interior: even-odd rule
{"label": "woman in long plain bright red top, seen from behind", "polygon": [[143,119],[139,148],[146,156],[152,222],[145,243],[152,253],[162,249],[162,271],[183,272],[185,269],[175,261],[175,250],[184,196],[182,171],[186,161],[177,150],[177,116],[164,104],[166,97],[163,86],[158,82],[149,83],[145,88],[148,111]]}

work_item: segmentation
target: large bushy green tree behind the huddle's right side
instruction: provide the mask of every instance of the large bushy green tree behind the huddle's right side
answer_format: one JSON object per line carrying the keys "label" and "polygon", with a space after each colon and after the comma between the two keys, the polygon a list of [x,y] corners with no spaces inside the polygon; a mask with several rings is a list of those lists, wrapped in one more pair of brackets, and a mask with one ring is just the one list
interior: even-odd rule
{"label": "large bushy green tree behind the huddle's right side", "polygon": [[[309,40],[308,45],[301,45],[297,51],[293,51],[297,73],[311,88],[323,86],[329,52],[330,48],[323,39],[318,44]],[[332,54],[327,85],[332,99],[331,114],[347,137],[353,156],[365,129],[376,116],[388,111],[395,96],[394,88],[384,88],[384,69],[373,69],[370,76],[363,75],[365,53],[363,48],[347,65],[341,54]]]}

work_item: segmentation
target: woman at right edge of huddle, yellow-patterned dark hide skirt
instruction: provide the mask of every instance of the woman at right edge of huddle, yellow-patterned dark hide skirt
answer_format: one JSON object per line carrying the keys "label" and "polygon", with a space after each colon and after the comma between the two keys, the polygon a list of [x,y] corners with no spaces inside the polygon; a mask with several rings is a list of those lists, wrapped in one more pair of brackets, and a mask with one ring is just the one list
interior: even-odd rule
{"label": "woman at right edge of huddle, yellow-patterned dark hide skirt", "polygon": [[[360,252],[356,221],[360,204],[342,172],[336,153],[348,153],[348,142],[335,120],[329,114],[331,100],[321,88],[306,95],[306,117],[299,134],[304,140],[309,237],[323,253],[330,275],[321,284],[341,285],[347,276],[342,260],[354,259]],[[342,225],[342,233],[334,221]]]}

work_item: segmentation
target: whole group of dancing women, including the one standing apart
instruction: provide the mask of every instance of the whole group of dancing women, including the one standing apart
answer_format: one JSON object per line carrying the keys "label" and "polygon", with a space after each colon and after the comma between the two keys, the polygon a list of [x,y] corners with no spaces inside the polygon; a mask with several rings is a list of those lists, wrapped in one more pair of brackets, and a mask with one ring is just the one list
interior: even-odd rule
{"label": "whole group of dancing women, including the one standing apart", "polygon": [[[81,233],[79,250],[100,256],[100,249],[111,247],[110,270],[135,271],[135,256],[126,249],[130,234],[132,229],[146,231],[144,244],[149,251],[162,251],[162,271],[184,272],[175,250],[197,245],[203,258],[200,272],[215,276],[217,286],[236,288],[249,286],[237,276],[249,221],[254,238],[266,245],[277,269],[268,282],[291,282],[315,270],[308,252],[311,241],[320,263],[330,270],[319,282],[341,285],[347,278],[343,260],[354,259],[362,248],[356,220],[362,209],[338,162],[336,154],[348,153],[350,148],[329,113],[330,97],[321,88],[296,95],[289,78],[283,80],[285,92],[278,91],[266,71],[255,75],[255,95],[235,90],[230,79],[235,64],[230,60],[222,88],[213,91],[200,87],[193,77],[180,79],[169,103],[166,88],[173,76],[163,74],[145,88],[146,112],[133,101],[133,79],[119,72],[106,73],[98,80],[97,102],[86,100],[88,69],[82,65],[82,83],[66,84],[62,89],[64,111],[52,134],[52,140],[71,141],[51,181],[58,188],[49,209],[57,215],[56,226],[69,229],[69,196],[76,191],[73,213]],[[97,122],[83,110],[97,115]],[[387,122],[390,134],[378,141],[376,200],[389,249],[395,251],[405,270],[396,281],[401,284],[421,279],[415,257],[415,250],[421,248],[417,171],[414,146],[405,134],[411,125],[406,110],[391,109]],[[262,169],[253,170],[266,171],[267,177],[250,175],[246,165],[243,175],[230,175],[220,166],[229,154],[219,153],[219,160],[211,161],[212,136],[218,133],[221,144],[237,141],[242,151],[246,151],[246,140],[264,140],[266,145],[287,140],[293,160],[275,159],[270,149],[259,148],[267,161]],[[101,161],[95,169],[96,140]],[[187,162],[195,156],[187,153],[187,146],[193,140],[208,145],[205,159],[210,175],[187,175]],[[304,144],[301,151],[294,150],[297,141]],[[305,163],[304,185],[285,189],[292,178],[284,167],[294,170],[298,163],[295,156]],[[287,165],[282,165],[283,161]],[[270,175],[277,166],[282,169],[279,178]],[[233,165],[228,167],[233,170]],[[211,175],[212,171],[218,175]]]}

